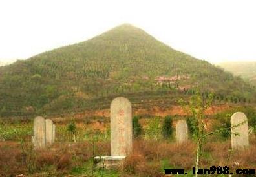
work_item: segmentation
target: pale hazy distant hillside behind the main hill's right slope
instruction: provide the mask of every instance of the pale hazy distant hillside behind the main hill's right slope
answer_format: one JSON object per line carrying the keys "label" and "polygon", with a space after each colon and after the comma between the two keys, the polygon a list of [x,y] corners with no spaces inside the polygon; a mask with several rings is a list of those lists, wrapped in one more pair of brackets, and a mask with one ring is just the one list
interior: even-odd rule
{"label": "pale hazy distant hillside behind the main hill's right slope", "polygon": [[256,86],[256,62],[222,62],[218,65]]}

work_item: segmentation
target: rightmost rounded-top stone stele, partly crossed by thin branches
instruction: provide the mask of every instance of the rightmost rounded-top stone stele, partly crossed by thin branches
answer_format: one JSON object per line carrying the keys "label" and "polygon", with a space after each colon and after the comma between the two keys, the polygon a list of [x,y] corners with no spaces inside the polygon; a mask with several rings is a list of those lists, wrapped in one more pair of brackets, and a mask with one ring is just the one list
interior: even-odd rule
{"label": "rightmost rounded-top stone stele, partly crossed by thin branches", "polygon": [[[237,112],[231,116],[232,149],[244,149],[249,146],[248,120],[244,113]],[[236,135],[238,134],[238,135]]]}

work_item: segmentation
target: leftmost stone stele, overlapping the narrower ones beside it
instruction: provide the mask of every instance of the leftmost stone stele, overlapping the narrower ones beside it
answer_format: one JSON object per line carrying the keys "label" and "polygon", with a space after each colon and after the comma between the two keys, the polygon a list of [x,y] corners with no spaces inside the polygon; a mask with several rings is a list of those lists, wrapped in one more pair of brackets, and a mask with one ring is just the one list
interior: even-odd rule
{"label": "leftmost stone stele, overlapping the narrower ones beside it", "polygon": [[46,145],[45,138],[45,118],[41,116],[37,116],[34,119],[34,127],[33,127],[33,145],[34,149],[44,148]]}

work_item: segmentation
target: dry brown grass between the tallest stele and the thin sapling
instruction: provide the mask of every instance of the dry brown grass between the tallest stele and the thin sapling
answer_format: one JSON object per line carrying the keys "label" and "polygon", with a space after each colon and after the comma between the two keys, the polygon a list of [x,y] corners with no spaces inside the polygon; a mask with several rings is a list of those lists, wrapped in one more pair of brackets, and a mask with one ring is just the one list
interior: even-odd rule
{"label": "dry brown grass between the tallest stele and the thin sapling", "polygon": [[[163,176],[162,160],[168,160],[173,167],[191,168],[195,145],[175,144],[155,140],[135,140],[133,154],[125,160],[124,171],[137,176]],[[177,153],[178,152],[178,153]]]}

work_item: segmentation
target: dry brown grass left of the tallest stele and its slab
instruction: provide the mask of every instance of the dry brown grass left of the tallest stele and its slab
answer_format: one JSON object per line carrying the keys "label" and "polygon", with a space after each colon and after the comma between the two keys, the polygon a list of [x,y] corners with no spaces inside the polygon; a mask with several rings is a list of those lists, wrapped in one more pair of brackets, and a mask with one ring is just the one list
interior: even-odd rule
{"label": "dry brown grass left of the tallest stele and its slab", "polygon": [[[93,157],[92,144],[54,144],[50,148],[34,151],[31,144],[1,142],[0,176],[40,174],[43,171],[69,174],[72,167],[83,165]],[[96,142],[96,154],[109,154],[109,142]]]}

